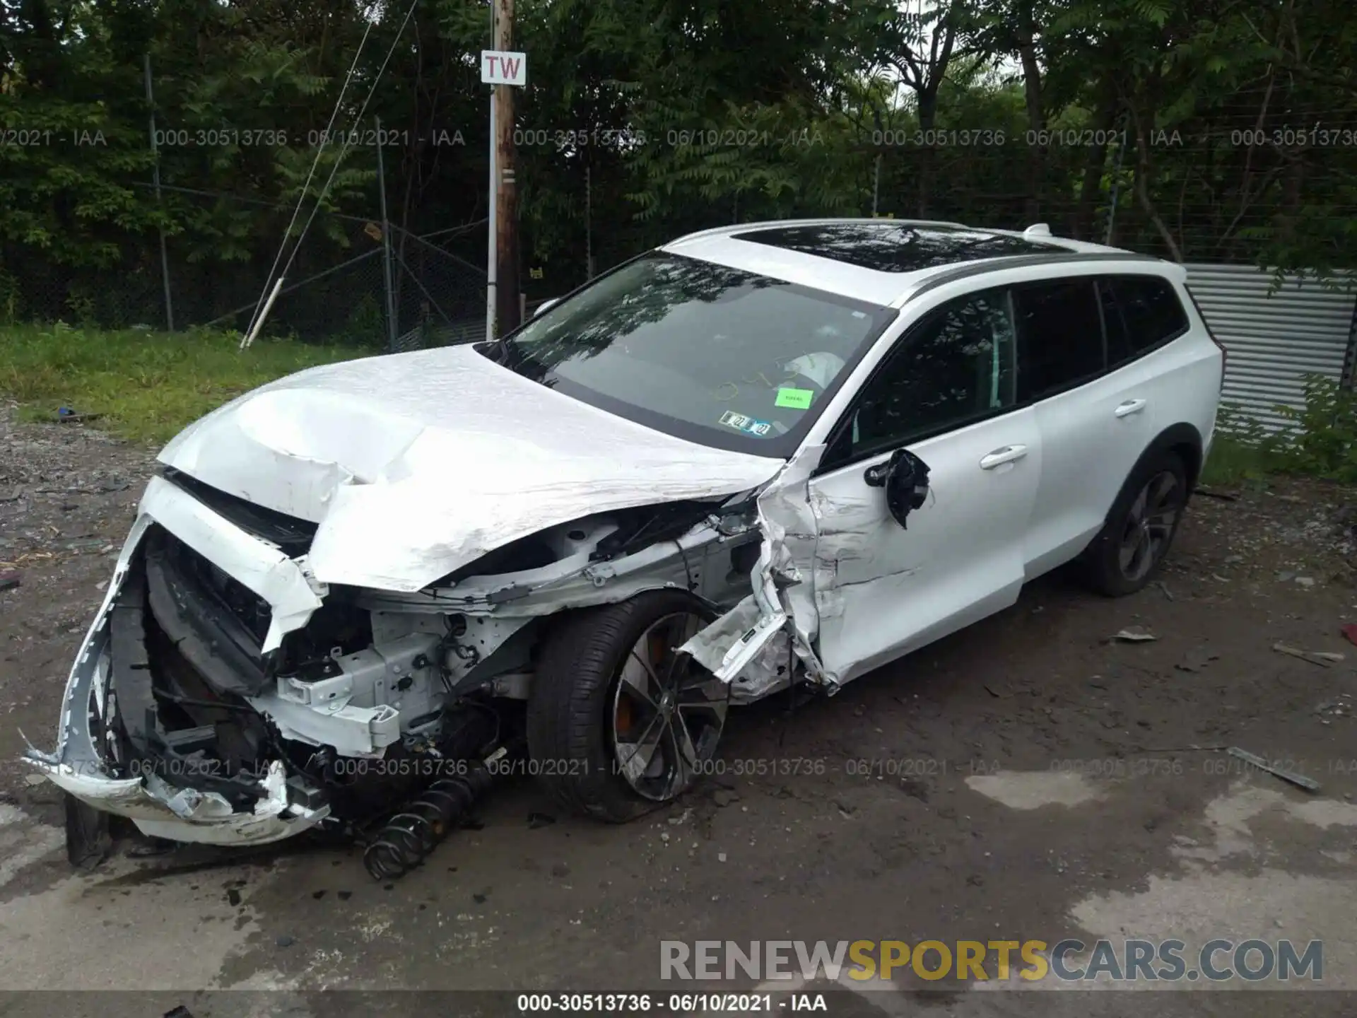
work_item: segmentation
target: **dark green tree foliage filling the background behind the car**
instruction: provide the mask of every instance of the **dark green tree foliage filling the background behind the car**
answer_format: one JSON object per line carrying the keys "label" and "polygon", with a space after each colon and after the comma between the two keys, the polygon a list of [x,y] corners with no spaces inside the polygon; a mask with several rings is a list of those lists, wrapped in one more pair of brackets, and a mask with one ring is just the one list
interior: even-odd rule
{"label": "dark green tree foliage filling the background behind the car", "polygon": [[[220,311],[322,193],[296,271],[370,251],[375,141],[407,265],[408,232],[487,213],[489,34],[484,0],[0,0],[7,292],[53,314],[115,270],[155,308],[163,231],[182,299]],[[688,229],[874,209],[1357,262],[1345,0],[518,0],[514,41],[541,295]]]}

